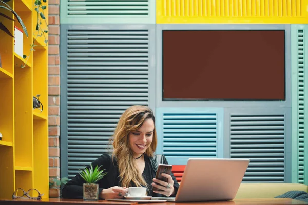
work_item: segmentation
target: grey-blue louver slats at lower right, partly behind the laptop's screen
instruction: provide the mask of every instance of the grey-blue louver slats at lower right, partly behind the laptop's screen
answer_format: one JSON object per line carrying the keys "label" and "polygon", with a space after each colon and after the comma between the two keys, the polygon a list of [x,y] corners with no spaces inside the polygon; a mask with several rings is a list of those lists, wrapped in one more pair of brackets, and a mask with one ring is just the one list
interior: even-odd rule
{"label": "grey-blue louver slats at lower right, partly behind the laptop's screen", "polygon": [[284,182],[285,117],[230,116],[230,157],[249,158],[243,182]]}

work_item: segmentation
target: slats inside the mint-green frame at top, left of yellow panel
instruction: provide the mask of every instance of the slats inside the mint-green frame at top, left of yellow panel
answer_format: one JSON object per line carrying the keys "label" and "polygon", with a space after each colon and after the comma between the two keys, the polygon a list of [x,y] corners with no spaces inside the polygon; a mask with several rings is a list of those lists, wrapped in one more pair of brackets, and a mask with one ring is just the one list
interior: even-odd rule
{"label": "slats inside the mint-green frame at top, left of yellow panel", "polygon": [[82,16],[148,16],[149,1],[148,0],[68,0],[67,15]]}

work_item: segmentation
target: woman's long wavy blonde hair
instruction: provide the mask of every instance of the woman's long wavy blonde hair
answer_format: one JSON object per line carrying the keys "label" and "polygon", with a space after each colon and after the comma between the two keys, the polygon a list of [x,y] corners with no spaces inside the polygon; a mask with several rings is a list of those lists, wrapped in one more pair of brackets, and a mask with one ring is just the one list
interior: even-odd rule
{"label": "woman's long wavy blonde hair", "polygon": [[[147,106],[131,106],[120,117],[117,127],[113,134],[113,154],[118,162],[120,172],[120,186],[131,187],[147,185],[142,174],[138,171],[134,163],[133,151],[129,145],[129,133],[138,130],[143,122],[152,119],[155,123],[153,111]],[[157,133],[154,127],[153,140],[145,151],[149,157],[153,156],[157,146]]]}

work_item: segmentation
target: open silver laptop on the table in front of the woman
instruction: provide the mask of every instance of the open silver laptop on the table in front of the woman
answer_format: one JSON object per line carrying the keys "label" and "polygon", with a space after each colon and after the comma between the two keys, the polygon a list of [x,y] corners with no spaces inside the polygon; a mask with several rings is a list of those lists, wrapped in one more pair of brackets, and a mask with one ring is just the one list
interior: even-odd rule
{"label": "open silver laptop on the table in front of the woman", "polygon": [[152,200],[232,200],[239,189],[249,159],[189,158],[176,197]]}

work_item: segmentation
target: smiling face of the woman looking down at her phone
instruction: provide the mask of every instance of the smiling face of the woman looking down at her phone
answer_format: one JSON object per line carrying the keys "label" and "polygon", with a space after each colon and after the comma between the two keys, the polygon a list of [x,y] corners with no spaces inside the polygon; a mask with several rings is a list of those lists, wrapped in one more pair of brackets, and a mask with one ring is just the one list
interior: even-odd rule
{"label": "smiling face of the woman looking down at her phone", "polygon": [[138,130],[129,133],[129,146],[134,153],[134,158],[145,153],[146,149],[151,145],[153,141],[153,131],[154,122],[152,119],[147,119]]}

